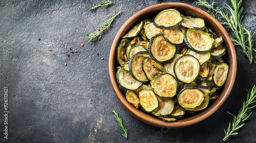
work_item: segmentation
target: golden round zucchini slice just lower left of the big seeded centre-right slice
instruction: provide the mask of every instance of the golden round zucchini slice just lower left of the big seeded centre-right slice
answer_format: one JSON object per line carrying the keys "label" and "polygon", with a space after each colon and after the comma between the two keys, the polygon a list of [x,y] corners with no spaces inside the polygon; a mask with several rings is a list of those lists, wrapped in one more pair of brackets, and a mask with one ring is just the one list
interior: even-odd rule
{"label": "golden round zucchini slice just lower left of the big seeded centre-right slice", "polygon": [[178,81],[172,75],[164,73],[151,81],[151,87],[159,97],[172,98],[178,92]]}

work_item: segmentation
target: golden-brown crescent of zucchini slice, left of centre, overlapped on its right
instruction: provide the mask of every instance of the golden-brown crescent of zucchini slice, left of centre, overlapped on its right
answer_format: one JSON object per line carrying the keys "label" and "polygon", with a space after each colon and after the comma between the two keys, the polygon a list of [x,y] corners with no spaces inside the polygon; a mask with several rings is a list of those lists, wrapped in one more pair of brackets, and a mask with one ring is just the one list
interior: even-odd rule
{"label": "golden-brown crescent of zucchini slice, left of centre, overlapped on its right", "polygon": [[145,73],[142,69],[142,62],[144,57],[149,57],[150,55],[146,51],[141,51],[136,53],[129,61],[129,71],[132,77],[138,81],[146,82],[148,81]]}

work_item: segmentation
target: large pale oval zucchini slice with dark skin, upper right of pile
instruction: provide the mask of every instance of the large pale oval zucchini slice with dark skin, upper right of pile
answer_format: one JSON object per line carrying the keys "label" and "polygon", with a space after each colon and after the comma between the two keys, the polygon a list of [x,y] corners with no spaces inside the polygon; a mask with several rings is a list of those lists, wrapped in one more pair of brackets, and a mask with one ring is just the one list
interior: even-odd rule
{"label": "large pale oval zucchini slice with dark skin, upper right of pile", "polygon": [[210,52],[214,39],[202,30],[187,29],[184,33],[184,40],[188,48],[197,53]]}

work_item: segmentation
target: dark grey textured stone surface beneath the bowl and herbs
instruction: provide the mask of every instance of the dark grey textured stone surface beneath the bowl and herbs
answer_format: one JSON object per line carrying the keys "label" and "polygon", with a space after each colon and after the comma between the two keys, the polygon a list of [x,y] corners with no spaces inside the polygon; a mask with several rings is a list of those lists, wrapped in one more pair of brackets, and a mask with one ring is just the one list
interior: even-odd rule
{"label": "dark grey textured stone surface beneath the bowl and herbs", "polygon": [[[224,129],[232,121],[226,111],[239,111],[246,89],[256,83],[256,64],[249,64],[236,46],[238,73],[232,92],[206,120],[181,129],[144,124],[127,113],[113,93],[108,74],[111,44],[123,23],[139,10],[177,1],[113,1],[108,8],[90,12],[99,2],[0,2],[0,142],[222,142]],[[255,5],[253,0],[243,1],[244,25],[252,32]],[[216,6],[224,4],[216,1]],[[100,41],[87,41],[86,33],[120,10],[121,16]],[[253,40],[256,45],[255,36]],[[70,48],[78,53],[68,57]],[[9,91],[8,139],[3,135],[4,87]],[[121,135],[112,109],[122,116],[129,139]],[[256,110],[252,111],[239,135],[228,142],[256,142]]]}

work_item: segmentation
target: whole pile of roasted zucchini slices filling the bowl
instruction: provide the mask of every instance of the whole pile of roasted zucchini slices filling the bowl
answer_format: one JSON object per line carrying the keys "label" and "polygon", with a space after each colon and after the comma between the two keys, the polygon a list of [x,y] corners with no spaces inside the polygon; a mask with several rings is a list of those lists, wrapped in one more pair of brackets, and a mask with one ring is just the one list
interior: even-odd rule
{"label": "whole pile of roasted zucchini slices filling the bowl", "polygon": [[122,37],[117,82],[134,107],[176,122],[218,98],[228,73],[222,42],[204,19],[165,9]]}

